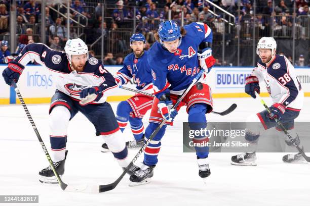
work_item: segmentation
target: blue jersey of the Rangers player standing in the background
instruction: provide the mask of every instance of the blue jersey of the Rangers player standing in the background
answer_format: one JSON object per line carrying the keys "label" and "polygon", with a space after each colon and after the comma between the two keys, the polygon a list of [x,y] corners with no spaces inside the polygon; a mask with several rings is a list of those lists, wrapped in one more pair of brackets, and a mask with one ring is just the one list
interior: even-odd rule
{"label": "blue jersey of the Rangers player standing in the background", "polygon": [[124,60],[124,66],[117,72],[116,79],[122,84],[126,84],[131,78],[135,80],[138,90],[152,90],[151,69],[147,61],[148,51],[140,58],[136,58],[133,53],[127,55]]}

